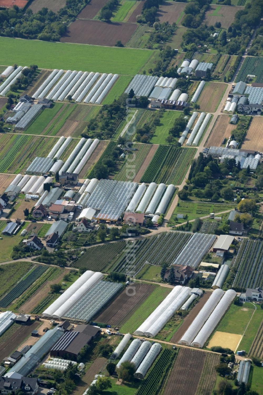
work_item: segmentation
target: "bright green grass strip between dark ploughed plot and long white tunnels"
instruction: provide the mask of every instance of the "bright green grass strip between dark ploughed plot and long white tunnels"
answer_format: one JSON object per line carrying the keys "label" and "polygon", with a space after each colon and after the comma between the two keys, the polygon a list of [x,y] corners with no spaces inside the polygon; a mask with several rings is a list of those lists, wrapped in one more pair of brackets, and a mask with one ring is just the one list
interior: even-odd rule
{"label": "bright green grass strip between dark ploughed plot and long white tunnels", "polygon": [[136,312],[120,328],[122,333],[133,333],[146,320],[147,317],[159,306],[164,298],[171,292],[171,288],[157,286],[151,295],[140,305]]}

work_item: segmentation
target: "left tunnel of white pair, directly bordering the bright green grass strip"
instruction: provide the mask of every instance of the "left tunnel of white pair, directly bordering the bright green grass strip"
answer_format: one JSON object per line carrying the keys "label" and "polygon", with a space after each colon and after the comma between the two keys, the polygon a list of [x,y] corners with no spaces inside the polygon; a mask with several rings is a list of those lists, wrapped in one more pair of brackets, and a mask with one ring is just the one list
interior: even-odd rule
{"label": "left tunnel of white pair, directly bordering the bright green grass strip", "polygon": [[160,303],[160,305],[146,318],[146,320],[136,329],[134,335],[144,336],[147,330],[157,320],[157,318],[166,310],[171,302],[179,295],[182,290],[181,285],[175,286],[172,291],[166,296],[166,298]]}

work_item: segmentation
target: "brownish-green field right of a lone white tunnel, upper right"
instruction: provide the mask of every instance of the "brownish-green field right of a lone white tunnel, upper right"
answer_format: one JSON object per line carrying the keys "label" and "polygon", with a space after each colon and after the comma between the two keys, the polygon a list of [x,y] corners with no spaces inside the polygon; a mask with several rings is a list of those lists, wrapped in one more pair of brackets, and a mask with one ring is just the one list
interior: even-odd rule
{"label": "brownish-green field right of a lone white tunnel, upper right", "polygon": [[214,113],[226,92],[227,84],[207,82],[198,98],[200,110],[206,113]]}

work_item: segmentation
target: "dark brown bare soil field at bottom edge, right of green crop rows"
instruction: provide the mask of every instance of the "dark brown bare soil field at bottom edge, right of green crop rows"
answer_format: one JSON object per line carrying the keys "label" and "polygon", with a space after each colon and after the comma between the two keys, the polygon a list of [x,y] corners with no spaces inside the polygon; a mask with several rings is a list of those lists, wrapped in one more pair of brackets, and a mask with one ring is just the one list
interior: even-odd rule
{"label": "dark brown bare soil field at bottom edge, right of green crop rows", "polygon": [[205,352],[181,348],[164,389],[164,395],[195,395],[205,362]]}

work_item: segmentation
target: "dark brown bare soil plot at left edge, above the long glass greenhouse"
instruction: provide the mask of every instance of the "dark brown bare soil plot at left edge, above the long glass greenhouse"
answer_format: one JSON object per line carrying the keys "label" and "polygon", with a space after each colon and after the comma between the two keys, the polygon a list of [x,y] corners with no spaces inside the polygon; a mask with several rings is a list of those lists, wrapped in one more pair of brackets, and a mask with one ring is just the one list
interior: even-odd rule
{"label": "dark brown bare soil plot at left edge, above the long glass greenhouse", "polygon": [[0,345],[1,359],[8,357],[13,351],[17,350],[19,344],[21,344],[38,325],[39,322],[37,321],[32,322],[31,325],[19,325],[17,330]]}

